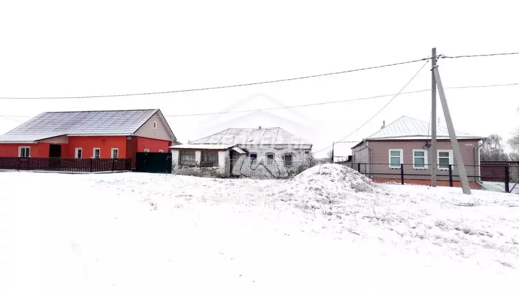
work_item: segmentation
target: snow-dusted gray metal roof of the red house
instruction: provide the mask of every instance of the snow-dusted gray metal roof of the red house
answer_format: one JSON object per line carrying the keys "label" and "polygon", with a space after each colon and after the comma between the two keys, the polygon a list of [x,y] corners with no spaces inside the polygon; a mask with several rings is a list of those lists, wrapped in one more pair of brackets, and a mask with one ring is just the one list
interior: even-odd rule
{"label": "snow-dusted gray metal roof of the red house", "polygon": [[[59,135],[131,135],[158,109],[44,112],[10,130],[2,139],[39,140]],[[36,139],[37,138],[37,139]]]}

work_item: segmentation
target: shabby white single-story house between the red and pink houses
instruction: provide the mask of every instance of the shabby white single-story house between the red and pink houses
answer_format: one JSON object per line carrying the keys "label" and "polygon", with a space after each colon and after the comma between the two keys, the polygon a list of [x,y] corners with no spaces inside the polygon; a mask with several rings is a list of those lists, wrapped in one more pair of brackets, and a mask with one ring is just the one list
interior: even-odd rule
{"label": "shabby white single-story house between the red and pink houses", "polygon": [[197,167],[216,170],[226,177],[279,177],[306,166],[312,144],[279,127],[228,128],[170,150],[173,172]]}

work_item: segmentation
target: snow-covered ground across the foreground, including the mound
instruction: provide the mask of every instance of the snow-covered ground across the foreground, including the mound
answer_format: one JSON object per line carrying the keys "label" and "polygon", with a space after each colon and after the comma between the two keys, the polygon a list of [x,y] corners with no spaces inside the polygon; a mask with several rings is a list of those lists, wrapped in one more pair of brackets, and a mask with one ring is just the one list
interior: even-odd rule
{"label": "snow-covered ground across the foreground, including the mound", "polygon": [[0,172],[0,290],[513,286],[519,197],[292,180]]}

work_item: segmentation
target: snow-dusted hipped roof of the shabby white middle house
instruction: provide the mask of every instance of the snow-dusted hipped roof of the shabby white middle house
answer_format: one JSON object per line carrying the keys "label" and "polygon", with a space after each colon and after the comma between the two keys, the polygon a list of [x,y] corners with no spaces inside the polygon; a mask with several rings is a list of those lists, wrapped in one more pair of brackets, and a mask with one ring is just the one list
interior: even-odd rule
{"label": "snow-dusted hipped roof of the shabby white middle house", "polygon": [[228,128],[214,135],[190,142],[190,144],[304,144],[301,138],[280,127],[271,128]]}

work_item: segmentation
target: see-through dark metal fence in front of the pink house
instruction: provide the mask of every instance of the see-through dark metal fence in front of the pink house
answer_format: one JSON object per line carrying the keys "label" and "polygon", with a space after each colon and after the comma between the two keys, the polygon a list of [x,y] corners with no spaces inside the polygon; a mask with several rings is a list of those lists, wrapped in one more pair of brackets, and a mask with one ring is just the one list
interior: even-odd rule
{"label": "see-through dark metal fence in front of the pink house", "polygon": [[[430,185],[431,165],[352,163],[351,167],[375,182]],[[465,165],[469,184],[474,189],[519,194],[519,166]],[[439,165],[436,169],[439,186],[459,187],[461,181],[456,165]]]}

